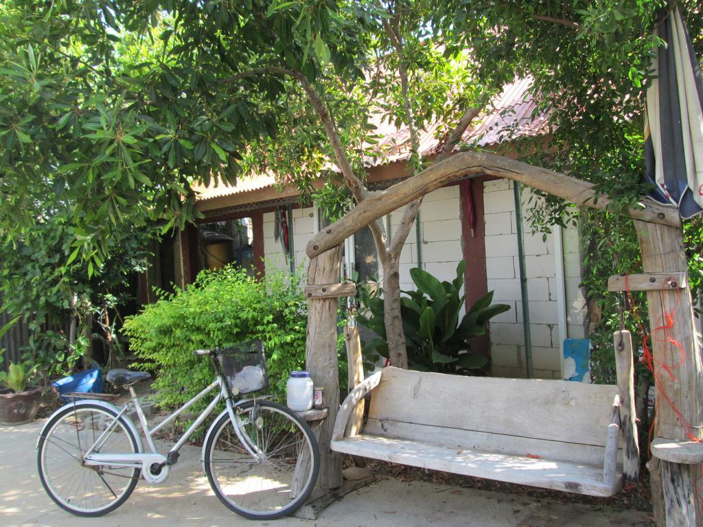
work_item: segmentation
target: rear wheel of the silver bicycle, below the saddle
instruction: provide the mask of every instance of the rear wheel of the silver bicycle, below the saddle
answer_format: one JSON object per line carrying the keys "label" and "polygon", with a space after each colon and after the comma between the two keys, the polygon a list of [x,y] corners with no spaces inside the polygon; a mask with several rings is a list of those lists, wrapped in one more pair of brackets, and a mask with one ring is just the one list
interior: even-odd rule
{"label": "rear wheel of the silver bicycle, below the saddle", "polygon": [[[46,434],[39,437],[39,479],[62,509],[77,516],[102,516],[120,507],[136,487],[139,469],[86,467],[81,462],[86,448],[116,416],[114,410],[97,404],[67,405],[46,425]],[[101,451],[138,453],[138,445],[124,417],[120,417]]]}

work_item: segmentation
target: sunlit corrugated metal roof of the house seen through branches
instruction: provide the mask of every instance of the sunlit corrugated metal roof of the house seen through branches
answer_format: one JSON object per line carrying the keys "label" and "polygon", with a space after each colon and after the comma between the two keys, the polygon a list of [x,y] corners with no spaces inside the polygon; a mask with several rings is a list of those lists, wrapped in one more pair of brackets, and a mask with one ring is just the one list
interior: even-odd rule
{"label": "sunlit corrugated metal roof of the house seen through branches", "polygon": [[[548,115],[536,111],[536,103],[529,89],[532,79],[517,79],[505,86],[489,104],[489,110],[479,117],[477,124],[468,128],[462,141],[474,143],[477,147],[497,145],[504,141],[515,141],[518,138],[534,137],[546,134],[548,131]],[[440,141],[441,123],[435,123],[420,133],[420,153],[423,156],[434,155]],[[387,128],[387,125],[384,126]],[[405,160],[410,154],[410,131],[408,128],[392,131],[378,144],[383,155],[376,160],[369,159],[368,167],[378,167],[396,161]],[[262,174],[249,178],[238,179],[236,186],[226,183],[211,183],[207,187],[195,187],[198,201],[212,200],[240,193],[261,190],[276,184],[276,178],[271,174]]]}

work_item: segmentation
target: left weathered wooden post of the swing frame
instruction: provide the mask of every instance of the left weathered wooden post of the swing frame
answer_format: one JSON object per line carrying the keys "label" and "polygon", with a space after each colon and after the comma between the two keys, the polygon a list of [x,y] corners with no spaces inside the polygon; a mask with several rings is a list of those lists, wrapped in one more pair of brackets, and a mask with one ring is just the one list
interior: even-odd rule
{"label": "left weathered wooden post of the swing frame", "polygon": [[[340,281],[342,247],[334,247],[310,260],[308,285],[328,285]],[[316,386],[323,386],[329,407],[320,425],[318,445],[321,467],[317,485],[328,490],[342,486],[342,457],[330,450],[330,439],[340,407],[340,381],[337,369],[338,297],[308,297],[306,364]]]}

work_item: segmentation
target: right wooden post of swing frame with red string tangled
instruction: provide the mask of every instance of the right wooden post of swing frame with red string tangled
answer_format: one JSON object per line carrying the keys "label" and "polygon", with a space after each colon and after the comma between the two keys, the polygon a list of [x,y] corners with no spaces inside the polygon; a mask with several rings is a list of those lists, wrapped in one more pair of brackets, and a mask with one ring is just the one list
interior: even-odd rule
{"label": "right wooden post of swing frame with red string tangled", "polygon": [[[636,220],[642,267],[645,273],[681,273],[686,271],[681,228]],[[703,366],[700,344],[695,337],[693,304],[690,289],[647,291],[647,305],[652,333],[657,413],[654,417],[654,437],[685,441],[689,434],[703,437]],[[671,318],[669,318],[671,317]],[[669,327],[663,330],[663,327]],[[668,337],[667,337],[668,335]],[[681,344],[679,349],[672,339]],[[662,365],[671,367],[671,376]],[[666,394],[666,397],[664,396]],[[671,401],[671,405],[666,401]],[[673,408],[672,408],[673,405]],[[676,410],[674,410],[676,408]],[[679,412],[677,414],[677,412]],[[687,429],[685,422],[691,429]],[[676,484],[688,486],[681,489],[686,495],[695,495],[695,481],[700,476],[700,465],[691,466],[692,477],[680,479]],[[661,462],[653,457],[650,462],[652,505],[657,525],[664,526],[664,494],[671,496],[671,485],[664,481],[662,490]],[[671,477],[671,476],[666,476]],[[699,503],[699,500],[696,500]],[[700,506],[688,507],[686,523],[703,527]]]}

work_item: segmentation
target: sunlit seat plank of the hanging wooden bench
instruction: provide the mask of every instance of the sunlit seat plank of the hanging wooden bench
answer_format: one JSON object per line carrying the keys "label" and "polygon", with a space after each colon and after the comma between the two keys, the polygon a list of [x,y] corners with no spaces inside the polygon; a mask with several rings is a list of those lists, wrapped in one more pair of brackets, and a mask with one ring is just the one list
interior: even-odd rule
{"label": "sunlit seat plank of the hanging wooden bench", "polygon": [[612,485],[603,483],[602,465],[583,465],[551,459],[537,460],[478,450],[456,450],[418,441],[366,434],[333,441],[332,447],[337,452],[373,457],[412,467],[593,496],[613,495],[621,483],[619,478]]}

